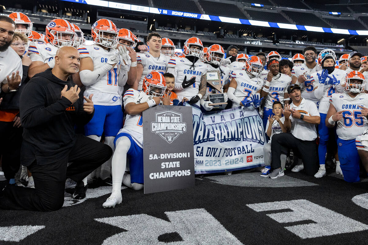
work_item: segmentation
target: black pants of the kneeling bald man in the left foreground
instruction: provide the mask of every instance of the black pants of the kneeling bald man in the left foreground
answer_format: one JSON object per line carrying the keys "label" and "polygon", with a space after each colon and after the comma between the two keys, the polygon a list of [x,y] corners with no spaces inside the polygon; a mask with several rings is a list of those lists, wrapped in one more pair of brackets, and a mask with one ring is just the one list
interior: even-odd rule
{"label": "black pants of the kneeling bald man in the left foreground", "polygon": [[[0,208],[53,211],[64,203],[66,178],[79,182],[112,156],[110,146],[77,135],[71,151],[57,162],[38,165],[34,161],[28,166],[35,181],[35,189],[8,185],[0,198]],[[71,164],[68,166],[68,162]]]}

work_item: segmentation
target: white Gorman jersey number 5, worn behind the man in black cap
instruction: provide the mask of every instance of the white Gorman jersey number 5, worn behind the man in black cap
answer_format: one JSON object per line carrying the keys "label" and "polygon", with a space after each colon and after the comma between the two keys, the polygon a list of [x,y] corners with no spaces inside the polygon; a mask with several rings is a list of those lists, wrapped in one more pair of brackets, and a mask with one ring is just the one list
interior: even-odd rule
{"label": "white Gorman jersey number 5, worn behind the man in black cap", "polygon": [[316,64],[315,67],[313,67],[312,69],[309,69],[305,63],[294,66],[293,70],[291,70],[291,76],[294,76],[296,78],[307,71],[307,73],[305,74],[307,80],[305,80],[304,83],[300,84],[301,96],[307,100],[313,101],[317,106],[319,106],[319,99],[314,96],[314,85],[313,82],[311,82],[311,75],[312,73],[315,73],[319,70],[322,70],[322,68],[318,64]]}

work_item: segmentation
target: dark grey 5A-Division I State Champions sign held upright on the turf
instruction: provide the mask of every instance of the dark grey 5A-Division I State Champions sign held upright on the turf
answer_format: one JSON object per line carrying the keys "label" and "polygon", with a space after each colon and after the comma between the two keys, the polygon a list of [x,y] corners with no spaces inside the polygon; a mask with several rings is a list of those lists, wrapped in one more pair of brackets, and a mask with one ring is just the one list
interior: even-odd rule
{"label": "dark grey 5A-Division I State Champions sign held upright on the turf", "polygon": [[194,187],[191,107],[155,106],[142,117],[144,193]]}

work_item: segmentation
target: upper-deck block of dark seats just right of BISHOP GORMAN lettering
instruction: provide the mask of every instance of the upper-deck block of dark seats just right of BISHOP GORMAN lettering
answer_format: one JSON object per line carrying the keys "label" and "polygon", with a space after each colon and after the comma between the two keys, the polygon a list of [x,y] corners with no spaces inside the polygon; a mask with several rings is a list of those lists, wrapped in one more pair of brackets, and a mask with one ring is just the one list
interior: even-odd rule
{"label": "upper-deck block of dark seats just right of BISHOP GORMAN lettering", "polygon": [[217,15],[232,18],[245,19],[245,15],[235,4],[217,3],[205,0],[199,0],[205,14]]}

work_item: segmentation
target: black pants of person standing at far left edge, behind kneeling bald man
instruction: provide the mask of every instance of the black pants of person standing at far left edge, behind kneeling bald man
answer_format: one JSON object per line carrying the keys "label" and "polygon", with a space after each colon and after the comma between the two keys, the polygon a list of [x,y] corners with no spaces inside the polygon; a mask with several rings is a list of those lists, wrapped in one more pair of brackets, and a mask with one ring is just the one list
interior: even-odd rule
{"label": "black pants of person standing at far left edge, behind kneeling bald man", "polygon": [[13,127],[14,122],[0,121],[0,155],[1,167],[7,180],[14,178],[20,168],[20,151],[22,146],[22,127]]}

